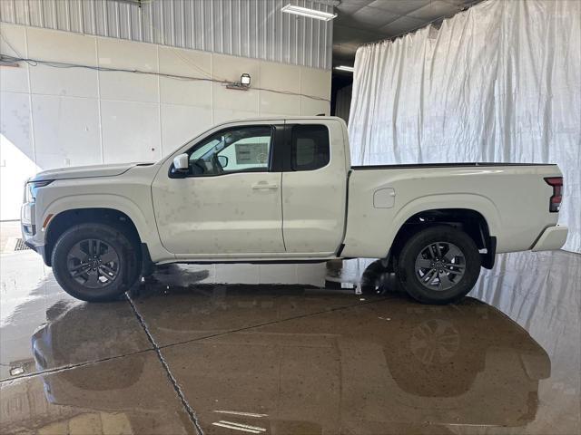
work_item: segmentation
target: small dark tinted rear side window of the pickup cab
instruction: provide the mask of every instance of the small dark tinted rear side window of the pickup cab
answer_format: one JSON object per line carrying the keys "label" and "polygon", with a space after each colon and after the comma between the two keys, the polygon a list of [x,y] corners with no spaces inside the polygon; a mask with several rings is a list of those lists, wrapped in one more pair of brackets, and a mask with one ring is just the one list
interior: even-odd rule
{"label": "small dark tinted rear side window of the pickup cab", "polygon": [[292,127],[291,169],[314,170],[327,166],[330,158],[329,130],[324,125]]}

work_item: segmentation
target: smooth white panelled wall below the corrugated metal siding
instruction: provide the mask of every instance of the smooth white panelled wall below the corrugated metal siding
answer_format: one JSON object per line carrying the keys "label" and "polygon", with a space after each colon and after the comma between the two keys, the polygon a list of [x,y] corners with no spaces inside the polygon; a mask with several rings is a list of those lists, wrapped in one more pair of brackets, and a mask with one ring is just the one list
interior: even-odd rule
{"label": "smooth white panelled wall below the corrugated metal siding", "polygon": [[0,220],[18,218],[25,179],[37,169],[158,160],[218,122],[330,111],[330,70],[14,24],[0,30],[3,54],[227,81],[250,73],[251,88],[294,93],[232,91],[157,74],[2,66]]}

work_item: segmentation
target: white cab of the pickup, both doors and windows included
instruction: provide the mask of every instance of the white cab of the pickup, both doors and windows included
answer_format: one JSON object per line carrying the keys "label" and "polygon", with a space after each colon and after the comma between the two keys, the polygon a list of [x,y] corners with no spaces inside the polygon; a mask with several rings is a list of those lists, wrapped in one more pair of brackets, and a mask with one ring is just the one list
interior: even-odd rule
{"label": "white cab of the pickup, both doors and windows included", "polygon": [[153,180],[162,246],[185,259],[330,258],[346,219],[349,150],[332,118],[230,123]]}

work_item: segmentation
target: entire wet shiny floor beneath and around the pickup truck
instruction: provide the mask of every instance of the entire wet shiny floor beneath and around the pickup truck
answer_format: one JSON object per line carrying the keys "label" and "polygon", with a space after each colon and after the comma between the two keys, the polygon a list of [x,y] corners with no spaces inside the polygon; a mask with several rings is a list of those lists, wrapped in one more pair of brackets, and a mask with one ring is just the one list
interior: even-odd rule
{"label": "entire wet shiny floor beneath and around the pickup truck", "polygon": [[445,306],[391,275],[356,295],[371,260],[168,266],[130,299],[85,304],[34,254],[0,259],[0,433],[581,429],[578,255],[499,256]]}

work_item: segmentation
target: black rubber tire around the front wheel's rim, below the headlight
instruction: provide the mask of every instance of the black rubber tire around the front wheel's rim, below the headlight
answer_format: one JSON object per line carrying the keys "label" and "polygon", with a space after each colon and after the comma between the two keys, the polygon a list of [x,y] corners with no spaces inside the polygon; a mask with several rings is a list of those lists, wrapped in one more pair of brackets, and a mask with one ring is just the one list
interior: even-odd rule
{"label": "black rubber tire around the front wheel's rim, below the headlight", "polygon": [[[99,280],[105,281],[104,284],[96,284],[102,285],[96,288],[80,283],[79,280],[83,280],[83,278],[75,278],[69,271],[70,262],[73,261],[69,254],[75,246],[79,246],[77,244],[86,246],[84,243],[87,240],[99,241],[107,250],[106,252],[112,248],[116,256],[115,262],[111,264],[115,266],[115,275],[112,279],[108,280],[107,277],[103,277],[103,274],[99,276],[99,273],[94,273],[99,277]],[[81,263],[88,265],[88,262]],[[131,239],[123,234],[123,229],[100,223],[81,224],[65,231],[54,245],[52,265],[54,277],[64,291],[77,299],[88,302],[118,300],[120,295],[123,295],[135,284],[141,273],[139,250]],[[83,265],[79,264],[79,266]],[[89,266],[88,269],[91,267]],[[84,270],[87,270],[86,266],[84,266]]]}

